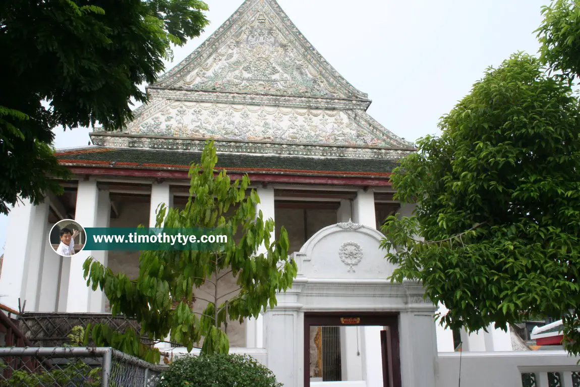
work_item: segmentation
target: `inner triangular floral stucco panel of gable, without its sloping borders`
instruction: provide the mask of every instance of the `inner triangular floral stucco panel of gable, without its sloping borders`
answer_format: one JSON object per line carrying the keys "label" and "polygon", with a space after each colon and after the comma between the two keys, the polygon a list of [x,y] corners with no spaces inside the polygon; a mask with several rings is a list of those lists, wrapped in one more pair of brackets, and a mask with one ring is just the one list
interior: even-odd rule
{"label": "inner triangular floral stucco panel of gable, without its sloping borders", "polygon": [[197,90],[336,97],[339,93],[259,13],[176,84]]}

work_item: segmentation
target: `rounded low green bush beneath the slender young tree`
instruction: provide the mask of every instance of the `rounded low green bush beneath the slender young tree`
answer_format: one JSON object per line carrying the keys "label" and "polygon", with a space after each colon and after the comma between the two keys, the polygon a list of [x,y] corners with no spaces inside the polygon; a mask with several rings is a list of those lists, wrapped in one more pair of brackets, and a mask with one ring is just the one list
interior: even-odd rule
{"label": "rounded low green bush beneath the slender young tree", "polygon": [[272,371],[249,356],[182,356],[162,375],[160,387],[281,387]]}

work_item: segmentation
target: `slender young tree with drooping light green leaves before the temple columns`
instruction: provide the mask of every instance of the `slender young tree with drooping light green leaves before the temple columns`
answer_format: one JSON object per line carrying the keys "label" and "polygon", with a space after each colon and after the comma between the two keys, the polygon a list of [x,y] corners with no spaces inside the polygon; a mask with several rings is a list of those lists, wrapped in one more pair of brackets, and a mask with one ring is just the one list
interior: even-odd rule
{"label": "slender young tree with drooping light green leaves before the temple columns", "polygon": [[[226,171],[216,171],[217,162],[216,149],[209,143],[201,165],[190,168],[186,207],[161,205],[157,227],[163,223],[174,229],[217,229],[228,236],[227,243],[213,250],[143,251],[136,280],[114,274],[90,257],[84,265],[88,285],[104,290],[111,313],[137,319],[141,333],[153,339],[164,339],[171,332],[172,341],[183,343],[189,351],[204,338],[202,353],[206,354],[227,353],[229,340],[222,330],[227,321],[258,317],[260,310],[275,306],[276,293],[291,287],[297,272],[296,263],[288,257],[287,231],[281,227],[280,237],[274,240],[274,222],[264,220],[262,211],[256,213],[260,199],[255,190],[248,189],[248,176],[232,183]],[[260,246],[265,251],[258,253]],[[234,292],[221,285],[227,276],[235,277],[238,288]],[[205,283],[211,284],[211,296],[200,292]],[[191,308],[190,302],[196,299],[208,302],[204,312]],[[140,345],[136,332],[121,334],[101,324],[87,330],[87,339],[89,331],[96,345],[112,345],[158,361],[159,353]]]}

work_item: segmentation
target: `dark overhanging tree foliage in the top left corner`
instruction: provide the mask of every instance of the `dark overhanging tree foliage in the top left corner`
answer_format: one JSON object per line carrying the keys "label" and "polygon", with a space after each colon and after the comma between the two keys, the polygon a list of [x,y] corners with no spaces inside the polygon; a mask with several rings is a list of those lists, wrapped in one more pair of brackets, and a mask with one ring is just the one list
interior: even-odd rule
{"label": "dark overhanging tree foliage in the top left corner", "polygon": [[171,44],[208,21],[198,0],[0,0],[0,212],[35,204],[66,179],[52,129],[106,130],[132,119],[131,99],[155,82]]}

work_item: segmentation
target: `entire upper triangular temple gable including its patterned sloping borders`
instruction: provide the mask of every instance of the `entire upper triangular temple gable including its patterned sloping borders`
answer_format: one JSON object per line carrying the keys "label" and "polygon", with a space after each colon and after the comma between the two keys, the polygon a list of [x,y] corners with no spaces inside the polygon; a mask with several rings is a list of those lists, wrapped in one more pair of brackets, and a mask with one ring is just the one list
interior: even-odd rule
{"label": "entire upper triangular temple gable including its patterned sloping borders", "polygon": [[[243,62],[249,52],[263,55],[253,56],[251,63]],[[285,62],[280,63],[280,59]],[[211,37],[155,85],[368,97],[310,45],[276,0],[245,1]]]}

